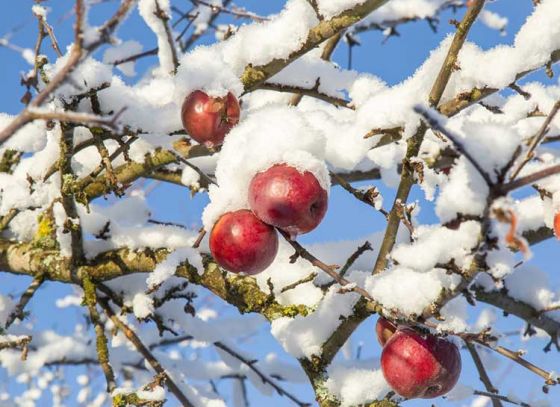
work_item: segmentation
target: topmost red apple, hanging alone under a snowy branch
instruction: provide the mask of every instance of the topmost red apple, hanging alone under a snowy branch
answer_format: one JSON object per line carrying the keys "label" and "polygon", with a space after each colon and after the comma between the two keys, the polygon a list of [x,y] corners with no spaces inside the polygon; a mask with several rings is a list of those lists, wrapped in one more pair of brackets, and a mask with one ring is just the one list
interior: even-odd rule
{"label": "topmost red apple, hanging alone under a snowy branch", "polygon": [[214,147],[221,145],[226,134],[239,122],[239,112],[239,102],[232,93],[213,97],[195,90],[183,102],[181,119],[189,136]]}

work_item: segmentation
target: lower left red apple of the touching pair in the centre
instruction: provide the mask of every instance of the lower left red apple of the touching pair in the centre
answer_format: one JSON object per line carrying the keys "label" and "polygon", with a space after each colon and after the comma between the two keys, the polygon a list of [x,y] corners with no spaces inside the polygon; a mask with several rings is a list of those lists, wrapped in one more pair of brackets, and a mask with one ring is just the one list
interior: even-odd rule
{"label": "lower left red apple of the touching pair in the centre", "polygon": [[228,212],[212,228],[210,252],[226,270],[257,274],[276,257],[278,236],[247,209]]}

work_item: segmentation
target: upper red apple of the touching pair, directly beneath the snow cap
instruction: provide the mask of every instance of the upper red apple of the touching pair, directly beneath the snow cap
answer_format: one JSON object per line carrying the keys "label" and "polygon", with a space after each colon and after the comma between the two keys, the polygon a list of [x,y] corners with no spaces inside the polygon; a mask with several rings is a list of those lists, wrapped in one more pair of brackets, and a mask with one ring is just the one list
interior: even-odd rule
{"label": "upper red apple of the touching pair, directly beneath the snow cap", "polygon": [[321,222],[327,212],[328,194],[311,172],[276,164],[252,179],[249,205],[263,222],[295,236],[315,229]]}

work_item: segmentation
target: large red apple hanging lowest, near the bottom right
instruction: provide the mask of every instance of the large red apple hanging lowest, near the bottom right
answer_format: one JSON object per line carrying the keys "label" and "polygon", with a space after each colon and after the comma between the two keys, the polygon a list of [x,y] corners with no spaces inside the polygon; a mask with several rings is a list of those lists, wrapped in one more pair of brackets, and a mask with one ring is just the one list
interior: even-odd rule
{"label": "large red apple hanging lowest, near the bottom right", "polygon": [[399,328],[381,353],[387,383],[403,397],[431,399],[449,392],[461,373],[457,347],[434,335]]}

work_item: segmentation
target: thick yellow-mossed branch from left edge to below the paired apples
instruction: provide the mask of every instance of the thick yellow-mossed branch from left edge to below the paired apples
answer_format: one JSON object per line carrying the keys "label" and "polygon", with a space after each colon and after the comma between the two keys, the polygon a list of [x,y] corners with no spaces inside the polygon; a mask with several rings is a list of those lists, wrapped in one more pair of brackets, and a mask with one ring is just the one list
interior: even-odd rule
{"label": "thick yellow-mossed branch from left edge to below the paired apples", "polygon": [[[62,257],[56,250],[39,249],[27,243],[0,241],[0,269],[31,276],[42,274],[47,280],[81,284],[84,276],[89,276],[96,282],[128,274],[150,273],[169,253],[167,249],[113,250],[79,266],[73,275],[70,260]],[[210,258],[206,259],[201,274],[185,261],[177,268],[176,275],[206,287],[234,305],[241,313],[257,312],[273,320],[307,315],[309,311],[303,305],[279,304],[273,296],[260,290],[254,278],[226,273]]]}

